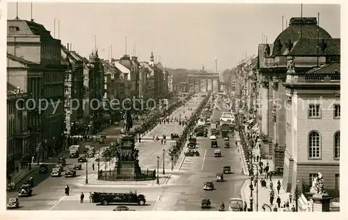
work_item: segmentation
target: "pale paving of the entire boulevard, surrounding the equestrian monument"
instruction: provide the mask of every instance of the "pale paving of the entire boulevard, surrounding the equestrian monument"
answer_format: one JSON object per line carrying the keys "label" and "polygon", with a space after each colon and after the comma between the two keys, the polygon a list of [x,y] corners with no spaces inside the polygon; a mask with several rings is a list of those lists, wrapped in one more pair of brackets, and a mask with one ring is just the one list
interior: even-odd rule
{"label": "pale paving of the entire boulevard, surrounding the equestrian monument", "polygon": [[[200,95],[198,95],[199,97]],[[194,98],[190,100],[186,106],[177,109],[172,116],[179,117],[180,115],[191,116],[188,109],[196,109],[202,98]],[[222,101],[217,102],[219,108],[223,109]],[[216,121],[221,116],[221,110],[214,107],[212,113],[212,121]],[[185,111],[185,112],[184,112]],[[224,111],[224,109],[223,109]],[[171,116],[171,117],[172,117]],[[148,140],[149,137],[161,136],[166,134],[170,137],[171,133],[179,133],[183,127],[175,123],[157,125],[155,129],[144,136],[144,141],[137,143],[137,148],[141,149],[139,155],[139,162],[142,168],[155,168],[157,155],[161,156],[161,143]],[[111,134],[112,135],[112,134]],[[170,141],[171,142],[171,141]],[[33,188],[33,196],[29,198],[19,198],[19,210],[112,210],[117,205],[97,205],[89,203],[88,195],[91,191],[105,191],[105,192],[129,192],[129,190],[137,191],[139,194],[144,194],[146,197],[146,204],[127,205],[134,210],[201,210],[200,199],[202,197],[210,198],[212,201],[212,210],[217,210],[219,204],[223,201],[228,204],[229,198],[240,198],[240,189],[247,176],[242,174],[242,167],[240,162],[239,152],[235,148],[235,140],[230,136],[230,148],[223,148],[223,139],[218,138],[219,148],[221,150],[221,157],[214,157],[214,149],[211,148],[211,142],[208,138],[198,138],[198,146],[196,149],[200,152],[200,157],[182,157],[183,160],[177,163],[175,169],[171,171],[168,166],[168,155],[166,159],[166,175],[168,181],[165,184],[149,184],[136,185],[127,184],[127,182],[120,182],[120,184],[83,184],[86,180],[86,163],[82,165],[82,170],[77,171],[76,178],[52,178],[47,174],[34,173],[35,187]],[[148,148],[149,146],[149,148]],[[151,148],[152,146],[152,148]],[[170,144],[166,144],[168,148]],[[104,146],[98,146],[102,150]],[[186,146],[184,147],[186,149]],[[97,157],[97,153],[95,155]],[[153,158],[152,158],[153,157]],[[76,163],[77,159],[67,159],[68,167]],[[92,169],[92,164],[95,164],[95,171]],[[223,166],[231,166],[232,173],[224,175],[224,182],[216,182],[216,173],[222,173]],[[53,166],[53,165],[51,165]],[[100,163],[100,168],[109,169],[113,166],[109,162]],[[51,168],[50,168],[51,169]],[[159,169],[161,171],[161,168]],[[96,180],[97,162],[95,158],[90,158],[88,162],[88,182],[92,183]],[[97,180],[99,181],[99,180]],[[203,184],[205,181],[214,182],[213,191],[204,191]],[[65,185],[70,187],[70,196],[65,196]],[[85,202],[79,202],[81,192],[85,194]],[[15,198],[17,193],[8,193],[7,198]],[[207,210],[209,211],[209,210]]]}

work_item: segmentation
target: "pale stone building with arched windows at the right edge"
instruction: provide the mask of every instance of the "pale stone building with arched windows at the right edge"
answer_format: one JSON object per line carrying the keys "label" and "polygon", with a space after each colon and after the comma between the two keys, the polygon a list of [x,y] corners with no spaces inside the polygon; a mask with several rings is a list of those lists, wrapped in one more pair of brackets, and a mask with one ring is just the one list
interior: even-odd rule
{"label": "pale stone building with arched windows at the right edge", "polygon": [[320,172],[325,189],[339,190],[340,97],[335,94],[340,91],[340,63],[302,73],[291,68],[294,65],[288,65],[283,83],[286,125],[283,186],[287,191],[295,191],[299,181],[299,190],[306,192]]}

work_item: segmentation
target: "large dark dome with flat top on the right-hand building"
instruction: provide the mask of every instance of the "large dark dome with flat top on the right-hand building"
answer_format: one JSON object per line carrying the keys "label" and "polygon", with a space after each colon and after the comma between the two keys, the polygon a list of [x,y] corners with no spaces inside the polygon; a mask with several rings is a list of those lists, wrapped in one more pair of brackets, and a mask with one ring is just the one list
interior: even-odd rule
{"label": "large dark dome with flat top on the right-hand building", "polygon": [[[289,41],[292,43],[301,38],[317,39],[317,18],[316,17],[292,17],[289,26],[274,40],[273,55],[282,54]],[[332,39],[330,34],[319,27],[319,39]]]}

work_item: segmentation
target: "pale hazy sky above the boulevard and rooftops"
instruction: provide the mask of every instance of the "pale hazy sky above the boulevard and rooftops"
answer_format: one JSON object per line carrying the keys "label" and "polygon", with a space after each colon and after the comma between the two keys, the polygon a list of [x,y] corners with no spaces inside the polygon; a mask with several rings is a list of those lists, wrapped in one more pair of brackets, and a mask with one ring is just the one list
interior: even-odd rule
{"label": "pale hazy sky above the boulevard and rooftops", "polygon": [[[8,3],[8,19],[16,17]],[[317,17],[333,38],[340,38],[340,5],[303,4],[303,17]],[[218,72],[234,68],[257,53],[262,34],[273,43],[286,20],[301,17],[301,4],[242,3],[33,3],[33,19],[82,56],[95,48],[101,58],[125,54],[157,61],[168,68],[198,70],[205,65]],[[30,3],[18,4],[19,19],[31,19]],[[54,31],[56,19],[56,31]],[[59,36],[58,36],[59,20]],[[55,33],[54,33],[55,32]],[[134,45],[136,52],[134,53]]]}

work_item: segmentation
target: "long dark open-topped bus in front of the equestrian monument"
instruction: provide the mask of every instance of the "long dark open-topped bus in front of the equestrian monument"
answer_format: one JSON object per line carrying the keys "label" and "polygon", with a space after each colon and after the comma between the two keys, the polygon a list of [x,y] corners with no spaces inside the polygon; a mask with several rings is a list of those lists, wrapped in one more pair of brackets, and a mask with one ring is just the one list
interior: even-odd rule
{"label": "long dark open-topped bus in front of the equestrian monument", "polygon": [[129,193],[93,192],[92,201],[102,205],[109,205],[110,203],[145,205],[146,203],[143,194],[136,194],[136,192],[133,193],[132,191]]}

